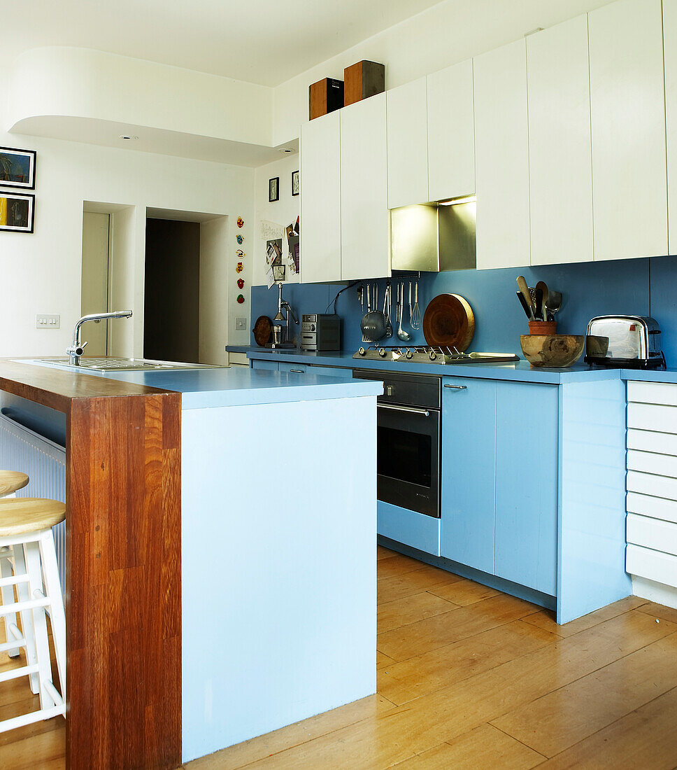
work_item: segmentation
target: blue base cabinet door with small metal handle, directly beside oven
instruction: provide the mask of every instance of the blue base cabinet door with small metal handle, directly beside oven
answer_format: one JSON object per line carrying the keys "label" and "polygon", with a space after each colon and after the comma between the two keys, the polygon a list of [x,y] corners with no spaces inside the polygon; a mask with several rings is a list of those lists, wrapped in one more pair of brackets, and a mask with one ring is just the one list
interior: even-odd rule
{"label": "blue base cabinet door with small metal handle, directly beside oven", "polygon": [[442,377],[440,554],[489,574],[494,572],[496,387],[495,380]]}

